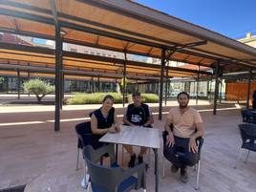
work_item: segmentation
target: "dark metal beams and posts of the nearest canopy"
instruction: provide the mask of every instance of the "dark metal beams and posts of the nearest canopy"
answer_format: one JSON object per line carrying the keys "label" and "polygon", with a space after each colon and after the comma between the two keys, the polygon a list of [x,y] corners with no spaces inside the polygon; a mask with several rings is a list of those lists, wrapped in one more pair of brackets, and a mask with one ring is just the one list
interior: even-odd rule
{"label": "dark metal beams and posts of the nearest canopy", "polygon": [[[193,37],[197,37],[198,39],[200,39],[199,41],[196,42],[192,42],[192,43],[186,43],[186,44],[178,44],[172,41],[168,41],[168,40],[164,40],[164,39],[160,39],[158,37],[152,37],[152,36],[147,36],[146,34],[141,34],[138,32],[130,32],[130,31],[125,31],[125,30],[120,30],[118,28],[115,28],[114,26],[109,26],[109,25],[104,25],[104,24],[100,24],[100,23],[96,23],[94,21],[90,21],[84,18],[78,18],[75,17],[74,15],[68,15],[65,14],[63,12],[57,12],[56,10],[56,6],[55,6],[55,1],[54,0],[49,0],[49,3],[51,5],[51,10],[47,10],[47,9],[43,9],[43,8],[38,8],[35,6],[29,6],[26,4],[22,4],[22,3],[18,3],[18,2],[11,2],[8,0],[2,0],[0,4],[2,5],[7,5],[7,6],[11,6],[13,8],[22,8],[28,11],[36,11],[36,12],[40,12],[40,13],[44,13],[44,16],[42,15],[35,15],[32,13],[28,13],[28,12],[23,12],[23,11],[16,11],[16,10],[9,10],[9,9],[5,9],[5,8],[1,8],[0,9],[0,15],[8,15],[15,18],[21,18],[21,19],[25,19],[25,20],[30,20],[30,21],[34,21],[34,22],[39,22],[39,23],[44,23],[44,24],[48,24],[50,26],[54,26],[54,30],[55,30],[55,34],[54,35],[45,35],[45,34],[37,34],[36,32],[22,32],[20,29],[17,28],[17,25],[15,24],[15,30],[11,30],[11,29],[1,29],[1,32],[11,32],[12,33],[17,33],[17,34],[25,34],[25,35],[32,35],[32,36],[37,36],[37,37],[43,37],[47,39],[55,39],[55,80],[56,80],[56,89],[55,89],[55,124],[54,124],[54,130],[55,131],[59,131],[59,117],[60,117],[60,108],[61,108],[61,102],[60,102],[60,97],[62,95],[62,80],[61,77],[63,76],[63,69],[62,69],[62,56],[64,56],[65,54],[70,54],[70,55],[79,55],[78,53],[65,53],[62,50],[62,44],[63,42],[69,42],[72,43],[74,42],[75,44],[83,44],[85,45],[86,43],[84,42],[79,42],[79,41],[75,41],[74,39],[66,39],[64,37],[64,39],[62,39],[61,37],[61,29],[62,28],[67,28],[67,29],[71,29],[71,30],[75,30],[78,32],[89,32],[89,33],[93,33],[96,35],[100,35],[100,36],[105,36],[105,37],[110,37],[113,39],[119,39],[121,41],[126,41],[126,47],[123,48],[123,51],[125,51],[125,53],[136,53],[136,52],[130,52],[129,50],[127,50],[127,46],[129,45],[129,43],[134,43],[134,44],[139,44],[139,45],[144,45],[144,46],[148,46],[149,49],[147,51],[147,53],[136,53],[139,55],[148,55],[151,56],[152,51],[154,48],[160,49],[161,52],[161,56],[158,56],[158,58],[161,59],[161,64],[160,66],[156,66],[158,68],[160,68],[160,113],[161,113],[161,100],[162,100],[162,85],[163,85],[163,76],[164,76],[164,69],[166,71],[169,70],[179,70],[179,71],[183,71],[183,72],[187,72],[187,73],[195,73],[195,71],[191,71],[191,70],[187,70],[187,69],[176,69],[176,68],[172,68],[172,67],[166,67],[165,66],[165,59],[166,59],[166,53],[170,52],[172,53],[172,51],[175,50],[176,53],[186,53],[188,54],[187,58],[189,58],[189,56],[199,56],[199,57],[203,57],[205,59],[210,59],[212,61],[217,61],[217,65],[214,65],[214,62],[212,62],[212,65],[209,65],[207,67],[211,67],[211,68],[215,68],[215,73],[216,73],[216,82],[218,81],[218,76],[219,76],[219,68],[221,68],[222,66],[220,65],[220,63],[224,63],[224,64],[237,64],[237,65],[246,65],[246,66],[250,66],[250,67],[255,67],[255,64],[252,63],[254,61],[254,58],[252,59],[234,59],[232,57],[229,56],[225,56],[223,54],[218,54],[218,53],[212,53],[209,51],[204,51],[200,48],[195,48],[197,46],[201,46],[201,45],[205,45],[207,43],[208,40],[210,40],[213,43],[217,43],[220,45],[223,45],[225,47],[228,48],[232,48],[232,49],[240,49],[243,50],[244,53],[247,54],[253,54],[256,56],[256,52],[253,51],[251,48],[242,46],[242,44],[232,44],[230,43],[231,39],[228,39],[218,33],[214,33],[214,32],[210,32],[210,31],[205,31],[202,28],[196,27],[195,25],[189,24],[189,23],[185,23],[181,20],[177,20],[175,25],[179,25],[179,23],[181,24],[183,22],[184,26],[183,28],[178,28],[175,27],[175,25],[173,27],[171,27],[170,25],[168,25],[168,23],[166,22],[166,19],[169,20],[174,20],[174,17],[171,17],[169,15],[163,14],[160,11],[153,11],[153,10],[149,10],[145,7],[142,7],[141,5],[131,2],[131,1],[122,1],[122,2],[118,2],[115,0],[110,0],[110,1],[96,1],[96,0],[78,0],[79,2],[83,2],[85,4],[90,4],[93,5],[96,8],[100,8],[103,10],[108,10],[108,11],[113,11],[113,12],[118,12],[121,13],[122,15],[126,15],[128,18],[133,18],[133,19],[137,19],[139,21],[148,23],[148,24],[153,24],[156,26],[159,26],[161,28],[164,29],[168,29],[174,32],[181,32],[183,34],[187,34]],[[117,5],[115,5],[114,3],[117,3]],[[129,5],[128,5],[129,4]],[[127,11],[123,11],[122,9],[124,9],[124,7],[127,7]],[[140,9],[141,11],[143,11],[143,13],[145,14],[154,14],[155,17],[151,16],[143,16],[142,14],[140,14],[140,12],[135,13],[135,11],[131,11],[131,9],[134,8],[136,9]],[[147,12],[145,12],[147,11]],[[48,15],[48,16],[45,16]],[[111,31],[114,32],[106,32],[106,31],[102,31],[100,29],[96,29],[96,28],[92,28],[92,27],[88,27],[88,26],[82,26],[79,25],[77,23],[71,23],[68,21],[63,21],[61,20],[62,18],[64,19],[70,19],[73,21],[78,21],[80,23],[83,24],[90,24],[91,26],[95,26],[95,27],[100,27],[100,28],[105,28],[105,29],[110,29]],[[191,27],[191,29],[188,29],[189,27]],[[118,33],[119,32],[119,33]],[[205,34],[203,34],[203,32],[205,32]],[[132,37],[133,35],[133,37]],[[212,35],[212,36],[211,36]],[[97,41],[98,41],[98,36],[97,36]],[[136,37],[135,37],[136,36]],[[217,38],[219,37],[219,38]],[[143,38],[143,39],[141,39]],[[147,39],[147,40],[145,40]],[[64,40],[64,41],[63,41]],[[12,45],[13,46],[13,45]],[[12,47],[11,46],[11,47]],[[133,46],[133,45],[131,45]],[[92,44],[91,47],[96,47],[96,48],[102,48],[101,46],[98,45],[98,43],[96,42],[96,44]],[[111,47],[105,47],[104,49],[108,49],[108,50],[114,50]],[[30,49],[28,49],[30,50]],[[37,49],[38,52],[42,51]],[[117,50],[116,50],[117,51]],[[120,51],[120,50],[118,50]],[[47,52],[53,52],[53,51],[47,51]],[[42,53],[42,52],[40,52]],[[63,54],[62,54],[63,53]],[[167,56],[168,57],[168,56]],[[97,57],[98,59],[98,57]],[[178,61],[185,61],[182,59],[177,59]],[[126,66],[126,64],[128,65],[130,61],[124,61],[124,65]],[[191,62],[191,64],[196,64],[198,66],[203,66],[203,60],[201,60],[198,63],[193,63]],[[136,62],[133,62],[135,65],[139,64]],[[143,65],[144,67],[149,67],[147,64],[140,64]],[[205,72],[203,72],[205,73]],[[199,72],[197,71],[197,74],[199,74]],[[206,73],[207,74],[207,73]],[[206,75],[205,74],[205,75]],[[124,74],[125,75],[125,74]],[[215,90],[215,99],[218,96],[218,83],[216,83],[216,90]],[[216,108],[216,103],[215,103],[215,107]],[[216,109],[214,109],[214,114],[216,114]],[[160,114],[161,117],[161,114]]]}

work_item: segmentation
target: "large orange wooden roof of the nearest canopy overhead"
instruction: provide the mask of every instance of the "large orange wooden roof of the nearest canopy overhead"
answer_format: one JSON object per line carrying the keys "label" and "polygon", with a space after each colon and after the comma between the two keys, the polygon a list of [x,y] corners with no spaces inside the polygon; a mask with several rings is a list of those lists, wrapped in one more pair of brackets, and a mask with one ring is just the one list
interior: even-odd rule
{"label": "large orange wooden roof of the nearest canopy overhead", "polygon": [[[214,67],[218,59],[224,64],[256,66],[256,49],[132,1],[54,2],[66,42],[153,57],[160,57],[164,48],[173,60],[206,67]],[[52,9],[49,1],[2,0],[0,28],[53,39]]]}

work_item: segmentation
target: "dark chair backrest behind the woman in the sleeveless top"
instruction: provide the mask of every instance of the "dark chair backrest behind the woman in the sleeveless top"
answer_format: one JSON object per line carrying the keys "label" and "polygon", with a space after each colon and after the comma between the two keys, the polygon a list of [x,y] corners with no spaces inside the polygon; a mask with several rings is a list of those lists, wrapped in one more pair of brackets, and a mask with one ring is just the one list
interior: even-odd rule
{"label": "dark chair backrest behind the woman in the sleeveless top", "polygon": [[92,139],[92,130],[91,130],[91,121],[81,122],[75,125],[75,132],[78,137],[77,147],[83,148],[84,146],[91,144]]}

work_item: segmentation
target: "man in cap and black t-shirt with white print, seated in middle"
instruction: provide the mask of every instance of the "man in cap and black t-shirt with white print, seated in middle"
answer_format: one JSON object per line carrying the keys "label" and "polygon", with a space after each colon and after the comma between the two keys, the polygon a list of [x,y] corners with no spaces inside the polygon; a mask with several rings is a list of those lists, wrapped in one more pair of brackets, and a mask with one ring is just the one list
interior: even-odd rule
{"label": "man in cap and black t-shirt with white print, seated in middle", "polygon": [[[130,126],[143,126],[143,127],[152,127],[151,124],[154,122],[153,116],[147,104],[141,103],[140,93],[133,94],[134,103],[129,104],[126,112],[123,116],[123,122],[125,125]],[[136,154],[131,145],[124,145],[126,151],[130,154],[131,160],[129,161],[128,166],[134,167]],[[139,163],[143,162],[143,155],[146,153],[146,147],[140,147],[139,152]]]}

